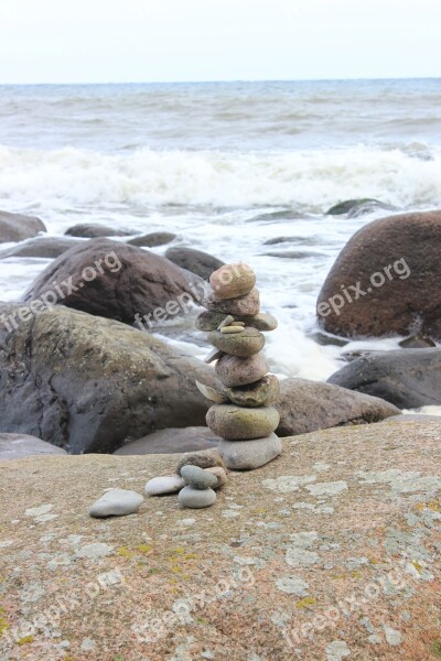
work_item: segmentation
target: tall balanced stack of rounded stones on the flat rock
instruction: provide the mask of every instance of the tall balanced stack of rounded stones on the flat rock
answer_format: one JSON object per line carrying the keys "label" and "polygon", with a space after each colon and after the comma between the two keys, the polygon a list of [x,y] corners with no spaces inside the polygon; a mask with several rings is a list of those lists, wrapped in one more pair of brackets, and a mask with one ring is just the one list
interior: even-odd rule
{"label": "tall balanced stack of rounded stones on the flat rock", "polygon": [[196,321],[208,330],[215,347],[205,359],[216,362],[224,386],[219,392],[196,381],[201,392],[215,402],[208,410],[209,429],[220,436],[219,454],[228,468],[251,470],[281,453],[282,444],[273,433],[279,413],[271,407],[279,397],[279,380],[269,375],[261,354],[262,332],[273,330],[277,321],[260,313],[259,292],[254,271],[243,263],[225,264],[212,273],[211,292],[203,301],[207,312]]}

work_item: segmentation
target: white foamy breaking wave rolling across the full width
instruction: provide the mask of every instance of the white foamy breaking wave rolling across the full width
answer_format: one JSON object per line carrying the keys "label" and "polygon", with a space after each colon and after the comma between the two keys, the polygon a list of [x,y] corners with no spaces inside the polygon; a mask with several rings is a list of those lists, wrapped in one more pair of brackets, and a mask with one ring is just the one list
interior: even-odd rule
{"label": "white foamy breaking wave rolling across the full width", "polygon": [[74,206],[290,205],[313,213],[353,197],[399,208],[439,205],[441,153],[421,160],[415,149],[409,152],[361,145],[284,153],[142,148],[108,154],[0,147],[0,198]]}

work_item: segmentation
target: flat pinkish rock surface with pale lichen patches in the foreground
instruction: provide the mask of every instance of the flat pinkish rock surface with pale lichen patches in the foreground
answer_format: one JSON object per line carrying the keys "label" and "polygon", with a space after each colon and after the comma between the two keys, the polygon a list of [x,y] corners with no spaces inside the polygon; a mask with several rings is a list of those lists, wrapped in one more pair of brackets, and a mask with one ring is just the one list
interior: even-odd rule
{"label": "flat pinkish rock surface with pale lichen patches in the foreground", "polygon": [[439,659],[440,435],[391,419],[288,437],[206,510],[148,498],[108,521],[87,514],[104,489],[140,492],[176,457],[1,463],[0,658]]}

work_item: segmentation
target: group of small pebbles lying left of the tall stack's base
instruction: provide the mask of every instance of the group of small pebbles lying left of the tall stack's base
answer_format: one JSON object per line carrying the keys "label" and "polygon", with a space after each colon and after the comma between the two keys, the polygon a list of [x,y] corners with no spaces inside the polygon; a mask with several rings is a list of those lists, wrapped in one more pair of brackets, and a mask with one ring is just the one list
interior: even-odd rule
{"label": "group of small pebbles lying left of the tall stack's base", "polygon": [[[146,485],[148,496],[179,492],[182,507],[202,509],[216,500],[216,490],[227,481],[224,462],[214,454],[186,455],[178,465],[175,475],[153,477]],[[89,508],[94,518],[125,517],[137,512],[144,498],[129,489],[109,489]]]}

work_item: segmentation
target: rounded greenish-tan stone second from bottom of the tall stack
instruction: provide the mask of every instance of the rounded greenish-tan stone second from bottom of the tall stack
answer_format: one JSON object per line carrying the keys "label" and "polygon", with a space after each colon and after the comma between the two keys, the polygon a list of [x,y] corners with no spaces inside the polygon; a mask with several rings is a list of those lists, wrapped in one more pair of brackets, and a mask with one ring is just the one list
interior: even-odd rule
{"label": "rounded greenish-tan stone second from bottom of the tall stack", "polygon": [[268,436],[277,430],[280,415],[272,407],[244,409],[235,404],[214,404],[208,409],[206,422],[214,434],[227,441],[241,441]]}

